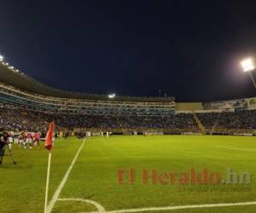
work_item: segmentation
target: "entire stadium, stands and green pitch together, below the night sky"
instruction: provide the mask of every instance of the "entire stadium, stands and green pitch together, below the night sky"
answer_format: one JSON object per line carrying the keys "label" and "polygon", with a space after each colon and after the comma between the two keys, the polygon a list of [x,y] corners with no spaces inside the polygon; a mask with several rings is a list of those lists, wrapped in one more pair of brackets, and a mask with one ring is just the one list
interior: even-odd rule
{"label": "entire stadium, stands and green pitch together, below the night sky", "polygon": [[[39,83],[5,60],[0,66],[1,130],[12,132],[14,141],[25,132],[39,131],[43,138],[49,123],[55,122],[49,190],[53,197],[47,212],[253,210],[253,183],[236,172],[251,175],[255,172],[256,98],[181,103],[174,97],[79,94]],[[43,209],[45,151],[36,149],[25,156],[23,148],[16,145],[13,148],[18,164],[13,167],[11,158],[5,156],[3,177],[13,181],[13,185],[17,179],[33,178],[38,187],[32,191],[19,189],[26,196],[13,192],[19,187],[4,187],[7,197],[1,199],[2,206],[7,206],[10,212],[39,212]],[[73,155],[78,148],[79,158],[73,168],[78,157]],[[40,160],[34,164],[33,158]],[[70,171],[65,173],[65,170],[72,158],[69,169],[73,171],[68,177]],[[27,171],[15,172],[22,167]],[[176,183],[149,177],[146,183],[141,180],[145,170],[147,176],[151,173],[154,176],[156,170],[163,174],[170,170],[196,170],[198,174],[201,170],[213,170],[225,176],[227,168],[230,168],[229,184],[183,183],[181,177],[177,177]],[[236,172],[232,174],[232,170]],[[128,175],[120,176],[119,171]],[[136,173],[132,184],[127,177],[131,172]],[[62,181],[61,176],[64,176]],[[192,177],[187,178],[192,181]],[[58,183],[63,180],[67,186],[62,185],[61,192]],[[168,187],[164,187],[166,184]],[[8,202],[14,194],[22,197],[15,199],[15,207]],[[22,199],[34,194],[42,202],[32,201],[26,206]]]}

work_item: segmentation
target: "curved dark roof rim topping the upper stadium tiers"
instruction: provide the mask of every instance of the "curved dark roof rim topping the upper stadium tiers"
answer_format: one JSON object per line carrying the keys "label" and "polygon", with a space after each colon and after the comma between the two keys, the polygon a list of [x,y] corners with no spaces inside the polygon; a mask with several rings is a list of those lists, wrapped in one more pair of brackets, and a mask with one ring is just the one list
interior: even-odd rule
{"label": "curved dark roof rim topping the upper stadium tiers", "polygon": [[[70,92],[61,89],[55,89],[40,83],[34,78],[27,76],[22,72],[17,72],[12,67],[0,63],[0,81],[15,88],[26,90],[33,94],[47,95],[61,98],[89,99],[89,100],[105,100],[108,101],[108,95],[92,95],[86,93]],[[156,101],[169,102],[175,98],[170,97],[133,97],[133,96],[116,96],[111,101]]]}

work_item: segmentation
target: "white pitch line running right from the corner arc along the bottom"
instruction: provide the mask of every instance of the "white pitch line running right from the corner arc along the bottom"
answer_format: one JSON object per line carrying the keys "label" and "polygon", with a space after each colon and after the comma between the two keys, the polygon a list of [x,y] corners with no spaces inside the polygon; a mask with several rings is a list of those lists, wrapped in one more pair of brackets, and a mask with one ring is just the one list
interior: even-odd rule
{"label": "white pitch line running right from the corner arc along the bottom", "polygon": [[[253,204],[256,204],[256,201],[230,203],[230,204],[190,204],[190,205],[175,205],[175,206],[166,206],[166,207],[149,207],[149,208],[141,208],[141,209],[109,210],[109,211],[105,211],[105,213],[131,213],[131,212],[159,211],[159,210],[185,210],[185,209],[227,207],[227,206],[253,205]],[[82,212],[82,213],[99,213],[99,211],[90,211],[90,212]]]}

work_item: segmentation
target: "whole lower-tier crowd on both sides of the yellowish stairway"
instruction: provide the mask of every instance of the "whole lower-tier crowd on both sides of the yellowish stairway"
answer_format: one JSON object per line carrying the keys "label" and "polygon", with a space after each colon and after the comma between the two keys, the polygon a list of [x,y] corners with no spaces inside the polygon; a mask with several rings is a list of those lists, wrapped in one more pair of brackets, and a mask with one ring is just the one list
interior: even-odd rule
{"label": "whole lower-tier crowd on both sides of the yellowish stairway", "polygon": [[[207,130],[256,130],[256,110],[237,112],[197,113]],[[54,121],[56,130],[169,130],[176,133],[200,132],[192,113],[166,116],[86,115],[36,112],[16,107],[0,107],[0,129],[17,131],[45,131]]]}

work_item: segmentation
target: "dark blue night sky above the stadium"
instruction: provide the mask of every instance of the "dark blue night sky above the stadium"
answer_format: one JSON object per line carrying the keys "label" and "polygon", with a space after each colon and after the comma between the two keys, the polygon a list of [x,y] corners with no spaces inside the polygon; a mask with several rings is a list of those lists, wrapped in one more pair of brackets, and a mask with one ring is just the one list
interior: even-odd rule
{"label": "dark blue night sky above the stadium", "polygon": [[[253,1],[1,1],[0,54],[58,89],[217,101],[256,96]],[[256,77],[256,75],[255,75]]]}

